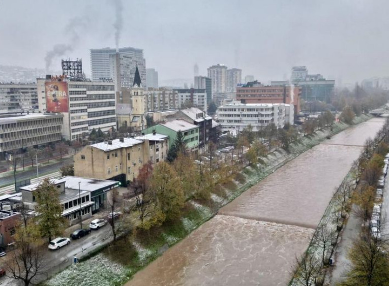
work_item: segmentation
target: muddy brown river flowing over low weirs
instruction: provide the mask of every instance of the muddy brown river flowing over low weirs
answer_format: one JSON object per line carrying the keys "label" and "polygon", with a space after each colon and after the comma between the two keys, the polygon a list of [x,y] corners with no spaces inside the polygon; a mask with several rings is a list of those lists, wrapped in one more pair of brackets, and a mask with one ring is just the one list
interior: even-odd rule
{"label": "muddy brown river flowing over low weirs", "polygon": [[306,151],[220,209],[126,286],[287,285],[334,190],[367,138],[373,118]]}

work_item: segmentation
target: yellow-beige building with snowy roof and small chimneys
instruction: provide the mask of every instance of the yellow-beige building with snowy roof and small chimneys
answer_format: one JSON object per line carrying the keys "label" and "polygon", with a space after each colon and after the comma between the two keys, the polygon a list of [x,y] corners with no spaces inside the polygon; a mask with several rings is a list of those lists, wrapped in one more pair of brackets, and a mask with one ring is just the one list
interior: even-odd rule
{"label": "yellow-beige building with snowy roof and small chimneys", "polygon": [[169,137],[156,133],[87,145],[74,156],[74,174],[126,185],[148,161],[165,161],[168,149]]}

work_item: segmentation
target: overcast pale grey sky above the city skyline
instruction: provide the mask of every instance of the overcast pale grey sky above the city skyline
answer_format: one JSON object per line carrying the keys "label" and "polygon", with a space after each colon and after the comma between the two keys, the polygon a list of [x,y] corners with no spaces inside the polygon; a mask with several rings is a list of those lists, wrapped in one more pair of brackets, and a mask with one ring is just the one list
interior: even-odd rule
{"label": "overcast pale grey sky above the city skyline", "polygon": [[[0,65],[44,68],[63,44],[89,73],[89,49],[115,47],[113,2],[0,0]],[[202,75],[224,63],[281,80],[301,65],[355,82],[389,76],[388,10],[387,0],[123,0],[119,46],[142,48],[160,80],[192,78],[197,62]]]}

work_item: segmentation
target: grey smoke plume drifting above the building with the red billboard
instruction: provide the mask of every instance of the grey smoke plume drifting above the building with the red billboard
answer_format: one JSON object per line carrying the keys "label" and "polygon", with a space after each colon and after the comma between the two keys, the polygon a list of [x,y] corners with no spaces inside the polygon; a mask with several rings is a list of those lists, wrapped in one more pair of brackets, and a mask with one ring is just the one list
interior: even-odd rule
{"label": "grey smoke plume drifting above the building with the red billboard", "polygon": [[85,29],[89,22],[88,17],[74,17],[70,20],[69,24],[65,27],[65,34],[69,35],[69,44],[56,44],[53,48],[46,52],[46,73],[49,72],[52,61],[54,58],[66,55],[73,51],[73,48],[80,41],[79,31]]}

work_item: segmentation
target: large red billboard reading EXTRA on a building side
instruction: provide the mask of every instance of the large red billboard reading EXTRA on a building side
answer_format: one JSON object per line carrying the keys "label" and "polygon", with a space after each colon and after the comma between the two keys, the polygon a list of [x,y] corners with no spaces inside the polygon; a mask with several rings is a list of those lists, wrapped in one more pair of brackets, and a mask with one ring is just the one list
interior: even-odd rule
{"label": "large red billboard reading EXTRA on a building side", "polygon": [[47,112],[69,112],[68,84],[65,81],[45,82]]}

